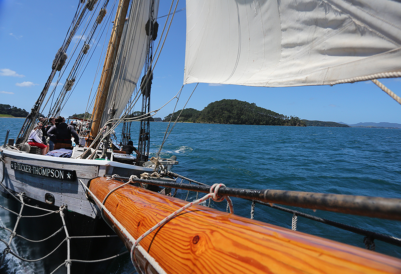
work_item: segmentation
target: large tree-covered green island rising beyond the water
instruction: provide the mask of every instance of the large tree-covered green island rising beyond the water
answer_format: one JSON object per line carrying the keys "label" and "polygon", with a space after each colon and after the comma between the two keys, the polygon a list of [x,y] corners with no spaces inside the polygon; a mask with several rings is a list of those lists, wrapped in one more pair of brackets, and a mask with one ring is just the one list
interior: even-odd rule
{"label": "large tree-covered green island rising beyond the water", "polygon": [[306,126],[306,123],[295,116],[286,116],[258,107],[255,103],[223,99],[210,103],[202,111],[192,108],[170,113],[163,121],[234,124],[234,125],[268,125],[268,126]]}

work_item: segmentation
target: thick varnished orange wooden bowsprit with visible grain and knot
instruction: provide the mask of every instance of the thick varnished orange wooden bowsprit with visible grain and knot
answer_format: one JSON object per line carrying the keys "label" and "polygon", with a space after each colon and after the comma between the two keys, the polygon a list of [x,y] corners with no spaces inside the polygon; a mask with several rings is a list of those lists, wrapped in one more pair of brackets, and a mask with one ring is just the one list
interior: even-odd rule
{"label": "thick varnished orange wooden bowsprit with visible grain and knot", "polygon": [[[90,190],[100,200],[123,184],[95,178]],[[187,204],[127,185],[112,192],[106,208],[139,238]],[[130,250],[132,243],[107,216]],[[260,221],[193,205],[146,236],[140,245],[167,273],[400,273],[401,260]],[[142,268],[152,270],[139,252]]]}

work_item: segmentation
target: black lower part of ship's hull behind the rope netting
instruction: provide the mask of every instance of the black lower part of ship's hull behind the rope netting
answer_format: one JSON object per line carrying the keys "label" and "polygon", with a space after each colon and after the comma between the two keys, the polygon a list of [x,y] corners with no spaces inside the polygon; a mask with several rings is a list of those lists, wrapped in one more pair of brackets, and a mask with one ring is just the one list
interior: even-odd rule
{"label": "black lower part of ship's hull behind the rope netting", "polygon": [[[12,197],[9,197],[9,208],[15,212],[19,212],[21,204]],[[28,205],[38,206],[49,210],[57,210],[58,208],[43,202],[35,200],[27,200]],[[42,215],[44,211],[37,208],[24,206],[24,216]],[[17,216],[10,214],[11,224],[17,220]],[[92,218],[69,210],[64,210],[64,220],[67,231],[70,237],[70,259],[71,273],[103,273],[109,268],[113,260],[100,261],[95,263],[77,262],[74,260],[100,260],[125,251],[124,244],[118,237],[115,237],[115,232],[104,222],[102,218]],[[13,228],[11,227],[11,228]],[[59,231],[59,229],[61,229]],[[67,260],[68,248],[66,232],[63,228],[63,221],[59,213],[30,218],[23,217],[19,221],[16,233],[32,240],[42,240],[59,231],[56,235],[42,242],[30,242],[21,237],[15,237],[14,246],[20,256],[26,259],[38,259],[50,254],[56,247],[60,245],[48,257],[36,262],[22,262],[24,268],[33,273],[51,273],[63,262]],[[111,237],[99,238],[74,238],[81,236],[103,236],[111,235]],[[61,266],[55,273],[67,273],[66,265]]]}

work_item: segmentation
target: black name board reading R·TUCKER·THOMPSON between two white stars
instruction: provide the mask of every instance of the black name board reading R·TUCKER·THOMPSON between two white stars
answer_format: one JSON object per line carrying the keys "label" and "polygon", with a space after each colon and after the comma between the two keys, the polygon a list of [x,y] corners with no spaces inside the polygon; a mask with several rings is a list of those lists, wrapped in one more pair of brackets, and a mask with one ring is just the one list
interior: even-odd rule
{"label": "black name board reading R\u00b7TUCKER\u00b7THOMPSON between two white stars", "polygon": [[11,161],[11,168],[16,171],[30,173],[33,175],[39,175],[42,177],[48,177],[52,179],[75,181],[77,174],[75,170],[66,170],[58,168],[49,168],[36,165],[27,165],[23,163],[16,163]]}

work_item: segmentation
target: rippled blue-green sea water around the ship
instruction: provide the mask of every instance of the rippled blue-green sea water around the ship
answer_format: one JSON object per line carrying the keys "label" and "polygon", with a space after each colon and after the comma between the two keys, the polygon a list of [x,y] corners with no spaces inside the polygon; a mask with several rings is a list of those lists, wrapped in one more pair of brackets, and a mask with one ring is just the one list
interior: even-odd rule
{"label": "rippled blue-green sea water around the ship", "polygon": [[[4,142],[7,129],[9,138],[16,138],[23,122],[24,119],[0,118],[0,142]],[[150,156],[157,154],[167,125],[150,124]],[[138,131],[139,123],[132,123],[131,136]],[[118,127],[116,135],[120,132]],[[133,141],[135,145],[136,139]],[[175,173],[209,185],[401,198],[400,144],[401,130],[397,129],[178,123],[164,142],[160,156],[175,155],[179,161],[173,168]],[[195,198],[195,194],[189,196],[191,200]],[[233,200],[236,214],[250,217],[250,202]],[[226,204],[213,206],[226,210]],[[401,237],[399,221],[292,209]],[[256,205],[255,219],[291,228],[291,218],[289,213]],[[298,217],[297,230],[364,247],[362,235],[302,217]],[[401,247],[375,240],[375,248],[401,258]],[[125,258],[116,262],[109,273],[131,271],[132,264]]]}

